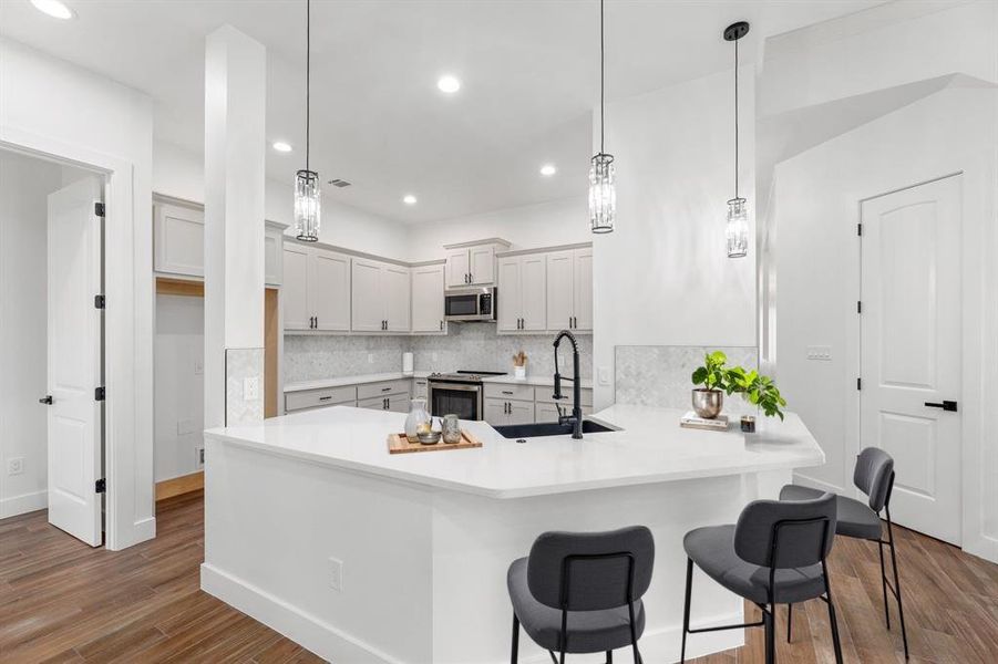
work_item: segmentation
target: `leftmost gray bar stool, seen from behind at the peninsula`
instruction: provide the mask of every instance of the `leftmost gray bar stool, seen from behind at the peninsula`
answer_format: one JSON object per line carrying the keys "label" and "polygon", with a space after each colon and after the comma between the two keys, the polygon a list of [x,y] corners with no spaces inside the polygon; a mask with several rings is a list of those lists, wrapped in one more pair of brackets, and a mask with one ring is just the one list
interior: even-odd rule
{"label": "leftmost gray bar stool, seen from behind at the peninsula", "polygon": [[[553,662],[566,653],[606,653],[631,647],[640,664],[638,639],[645,631],[641,595],[651,583],[655,540],[644,526],[607,532],[545,532],[527,558],[506,574],[513,601],[512,662],[519,626]],[[555,658],[555,652],[560,658]]]}

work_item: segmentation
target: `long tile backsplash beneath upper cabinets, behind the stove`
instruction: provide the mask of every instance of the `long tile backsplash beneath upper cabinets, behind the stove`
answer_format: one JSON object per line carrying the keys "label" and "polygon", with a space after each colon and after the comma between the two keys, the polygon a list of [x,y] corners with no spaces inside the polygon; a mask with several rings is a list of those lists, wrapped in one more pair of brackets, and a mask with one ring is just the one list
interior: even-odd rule
{"label": "long tile backsplash beneath upper cabinets, behind the stove", "polygon": [[[445,336],[285,335],[286,383],[402,370],[402,353],[413,353],[415,371],[505,371],[513,373],[513,355],[527,355],[527,375],[554,374],[554,334],[500,335],[495,325],[449,325]],[[579,335],[583,378],[593,376],[593,336]],[[558,367],[572,375],[572,345],[563,342]]]}

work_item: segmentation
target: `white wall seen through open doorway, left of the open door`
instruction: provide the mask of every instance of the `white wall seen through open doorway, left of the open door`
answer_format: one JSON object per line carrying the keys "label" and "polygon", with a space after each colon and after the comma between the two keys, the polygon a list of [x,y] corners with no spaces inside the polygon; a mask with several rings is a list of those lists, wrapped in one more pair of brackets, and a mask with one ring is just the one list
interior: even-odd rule
{"label": "white wall seen through open doorway, left of the open door", "polygon": [[[0,151],[0,518],[48,505],[48,195],[60,167]],[[12,458],[21,475],[8,475]]]}

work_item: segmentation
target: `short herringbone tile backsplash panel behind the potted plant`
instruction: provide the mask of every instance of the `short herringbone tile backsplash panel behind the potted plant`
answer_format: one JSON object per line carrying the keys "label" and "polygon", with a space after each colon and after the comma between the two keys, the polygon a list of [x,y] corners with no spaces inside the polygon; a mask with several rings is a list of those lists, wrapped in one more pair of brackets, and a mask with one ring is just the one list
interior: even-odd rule
{"label": "short herringbone tile backsplash panel behind the potted plant", "polygon": [[[617,346],[615,352],[616,402],[641,406],[689,409],[690,375],[709,351],[723,351],[728,364],[755,369],[755,346]],[[740,396],[724,397],[724,412],[752,414],[754,406]]]}

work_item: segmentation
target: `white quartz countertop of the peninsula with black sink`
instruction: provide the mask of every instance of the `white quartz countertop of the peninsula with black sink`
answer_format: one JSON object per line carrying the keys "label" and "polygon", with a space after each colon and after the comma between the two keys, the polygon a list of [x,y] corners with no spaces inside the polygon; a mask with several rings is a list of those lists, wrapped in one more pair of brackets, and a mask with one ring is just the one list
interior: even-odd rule
{"label": "white quartz countertop of the peninsula with black sink", "polygon": [[[483,446],[390,455],[388,435],[405,415],[336,406],[205,432],[209,442],[240,445],[307,463],[491,498],[523,498],[627,485],[741,475],[824,464],[800,417],[760,419],[745,436],[679,426],[682,411],[616,405],[587,419],[618,427],[569,436],[506,439],[484,422],[462,422]],[[732,426],[737,426],[732,423]],[[263,461],[261,461],[263,463]],[[210,473],[210,467],[208,469]]]}

